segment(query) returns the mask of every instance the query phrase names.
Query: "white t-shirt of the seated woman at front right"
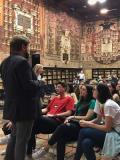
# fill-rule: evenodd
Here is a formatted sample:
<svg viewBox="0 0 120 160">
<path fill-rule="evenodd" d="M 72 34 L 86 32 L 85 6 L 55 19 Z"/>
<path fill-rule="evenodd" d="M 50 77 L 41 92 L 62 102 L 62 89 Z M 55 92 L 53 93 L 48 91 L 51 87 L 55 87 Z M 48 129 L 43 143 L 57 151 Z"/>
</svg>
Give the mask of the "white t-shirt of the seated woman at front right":
<svg viewBox="0 0 120 160">
<path fill-rule="evenodd" d="M 101 108 L 103 106 L 103 112 L 101 112 Z M 108 99 L 105 104 L 100 104 L 98 100 L 96 100 L 96 105 L 94 112 L 103 116 L 110 116 L 113 118 L 113 127 L 120 126 L 120 106 L 111 99 Z"/>
</svg>

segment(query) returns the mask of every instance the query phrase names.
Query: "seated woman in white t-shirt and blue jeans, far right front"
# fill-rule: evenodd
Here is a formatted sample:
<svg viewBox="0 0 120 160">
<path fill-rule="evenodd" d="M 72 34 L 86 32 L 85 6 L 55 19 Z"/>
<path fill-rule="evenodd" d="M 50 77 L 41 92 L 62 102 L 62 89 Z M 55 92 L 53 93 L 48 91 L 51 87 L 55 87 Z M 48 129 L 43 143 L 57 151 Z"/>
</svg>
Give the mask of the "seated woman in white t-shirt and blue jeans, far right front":
<svg viewBox="0 0 120 160">
<path fill-rule="evenodd" d="M 112 158 L 120 152 L 120 107 L 111 100 L 109 88 L 99 84 L 96 88 L 97 101 L 93 121 L 80 121 L 78 144 L 74 160 L 80 160 L 84 153 L 87 160 L 96 160 L 94 146 L 102 150 L 104 159 Z"/>
</svg>

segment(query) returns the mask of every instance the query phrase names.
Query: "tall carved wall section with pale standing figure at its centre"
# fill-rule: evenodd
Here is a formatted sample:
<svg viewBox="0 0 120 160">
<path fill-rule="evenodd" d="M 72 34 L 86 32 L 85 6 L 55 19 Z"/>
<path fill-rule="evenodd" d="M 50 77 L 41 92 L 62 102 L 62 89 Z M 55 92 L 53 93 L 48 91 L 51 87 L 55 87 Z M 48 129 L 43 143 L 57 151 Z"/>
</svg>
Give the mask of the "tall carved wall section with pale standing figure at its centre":
<svg viewBox="0 0 120 160">
<path fill-rule="evenodd" d="M 65 53 L 68 54 L 68 60 L 78 61 L 80 56 L 81 23 L 66 13 L 53 8 L 49 8 L 46 11 L 46 17 L 46 54 L 61 57 L 61 52 L 65 51 L 63 48 L 67 46 Z M 69 38 L 64 38 L 66 31 L 69 32 Z M 64 45 L 63 39 L 66 39 Z"/>
</svg>

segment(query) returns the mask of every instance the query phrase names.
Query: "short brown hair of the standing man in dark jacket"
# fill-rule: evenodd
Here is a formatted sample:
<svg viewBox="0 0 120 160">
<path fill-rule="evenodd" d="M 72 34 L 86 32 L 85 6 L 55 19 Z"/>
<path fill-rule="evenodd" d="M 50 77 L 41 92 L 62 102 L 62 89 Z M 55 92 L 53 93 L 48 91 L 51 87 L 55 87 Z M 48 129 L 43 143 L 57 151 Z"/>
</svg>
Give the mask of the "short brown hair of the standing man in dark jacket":
<svg viewBox="0 0 120 160">
<path fill-rule="evenodd" d="M 14 54 L 14 52 L 18 52 L 22 49 L 22 45 L 27 46 L 29 44 L 29 40 L 25 36 L 14 36 L 10 42 L 10 54 Z"/>
</svg>

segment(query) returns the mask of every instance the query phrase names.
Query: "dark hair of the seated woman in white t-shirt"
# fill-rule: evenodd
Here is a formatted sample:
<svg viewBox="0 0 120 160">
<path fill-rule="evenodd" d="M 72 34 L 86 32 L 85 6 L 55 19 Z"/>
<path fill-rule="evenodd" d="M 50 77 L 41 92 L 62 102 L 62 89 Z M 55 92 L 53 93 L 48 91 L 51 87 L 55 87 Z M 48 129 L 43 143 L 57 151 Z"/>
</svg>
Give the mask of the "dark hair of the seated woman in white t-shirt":
<svg viewBox="0 0 120 160">
<path fill-rule="evenodd" d="M 104 104 L 108 99 L 112 98 L 110 90 L 106 84 L 98 84 L 97 91 L 98 101 L 102 104 Z"/>
</svg>

